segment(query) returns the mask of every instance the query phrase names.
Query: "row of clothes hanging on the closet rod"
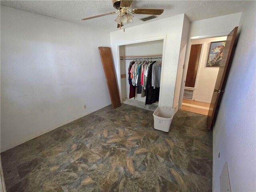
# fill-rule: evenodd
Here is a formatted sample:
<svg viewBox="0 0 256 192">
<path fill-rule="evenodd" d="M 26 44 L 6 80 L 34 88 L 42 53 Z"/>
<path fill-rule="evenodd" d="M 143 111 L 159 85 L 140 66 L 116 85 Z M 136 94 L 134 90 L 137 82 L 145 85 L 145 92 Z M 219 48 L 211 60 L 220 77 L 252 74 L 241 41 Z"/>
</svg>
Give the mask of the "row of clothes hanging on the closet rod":
<svg viewBox="0 0 256 192">
<path fill-rule="evenodd" d="M 145 105 L 159 100 L 161 64 L 160 61 L 130 62 L 128 68 L 129 98 L 135 99 L 137 89 L 137 94 L 141 94 L 141 97 L 146 96 Z"/>
</svg>

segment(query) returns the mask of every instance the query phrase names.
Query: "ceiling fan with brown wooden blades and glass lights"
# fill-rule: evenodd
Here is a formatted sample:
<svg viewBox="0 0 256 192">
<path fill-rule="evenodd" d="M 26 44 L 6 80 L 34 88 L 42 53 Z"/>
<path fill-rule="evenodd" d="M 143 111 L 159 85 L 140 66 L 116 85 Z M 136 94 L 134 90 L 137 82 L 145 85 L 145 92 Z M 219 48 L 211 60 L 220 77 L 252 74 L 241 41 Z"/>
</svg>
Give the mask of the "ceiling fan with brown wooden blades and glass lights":
<svg viewBox="0 0 256 192">
<path fill-rule="evenodd" d="M 102 17 L 106 15 L 113 15 L 117 14 L 119 12 L 119 15 L 115 19 L 115 22 L 117 22 L 117 28 L 121 28 L 125 24 L 128 24 L 132 22 L 132 14 L 147 14 L 147 15 L 160 15 L 164 12 L 163 9 L 133 9 L 129 10 L 129 8 L 132 5 L 133 0 L 112 0 L 113 7 L 116 8 L 118 11 L 116 12 L 109 12 L 109 13 L 104 13 L 92 17 L 87 17 L 83 18 L 82 20 L 88 20 L 88 19 L 93 19 L 97 17 Z M 130 14 L 130 13 L 132 14 Z"/>
</svg>

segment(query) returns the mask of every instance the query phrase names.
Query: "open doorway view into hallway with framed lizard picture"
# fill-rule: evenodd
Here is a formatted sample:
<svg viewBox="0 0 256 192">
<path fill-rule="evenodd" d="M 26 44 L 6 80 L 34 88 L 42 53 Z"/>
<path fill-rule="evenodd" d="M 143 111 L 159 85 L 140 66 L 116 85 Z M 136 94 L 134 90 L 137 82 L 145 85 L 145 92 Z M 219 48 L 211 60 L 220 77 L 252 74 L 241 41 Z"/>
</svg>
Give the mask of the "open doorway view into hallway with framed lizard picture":
<svg viewBox="0 0 256 192">
<path fill-rule="evenodd" d="M 226 38 L 192 40 L 181 110 L 208 115 Z"/>
</svg>

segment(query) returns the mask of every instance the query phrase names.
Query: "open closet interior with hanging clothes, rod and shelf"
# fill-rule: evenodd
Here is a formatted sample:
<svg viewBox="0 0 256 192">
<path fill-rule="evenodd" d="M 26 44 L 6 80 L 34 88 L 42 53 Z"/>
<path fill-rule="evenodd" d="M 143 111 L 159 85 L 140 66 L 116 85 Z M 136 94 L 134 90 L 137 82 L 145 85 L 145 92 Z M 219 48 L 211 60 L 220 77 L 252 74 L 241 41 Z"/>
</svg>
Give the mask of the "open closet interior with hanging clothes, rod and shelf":
<svg viewBox="0 0 256 192">
<path fill-rule="evenodd" d="M 164 40 L 119 46 L 122 103 L 156 110 L 160 100 Z"/>
</svg>

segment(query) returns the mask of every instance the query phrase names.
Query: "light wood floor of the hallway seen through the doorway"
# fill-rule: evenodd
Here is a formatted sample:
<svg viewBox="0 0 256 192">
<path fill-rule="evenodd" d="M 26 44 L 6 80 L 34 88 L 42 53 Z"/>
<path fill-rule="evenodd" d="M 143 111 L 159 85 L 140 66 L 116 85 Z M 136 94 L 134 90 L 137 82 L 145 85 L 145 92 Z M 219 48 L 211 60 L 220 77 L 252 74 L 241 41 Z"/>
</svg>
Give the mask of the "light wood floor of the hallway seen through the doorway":
<svg viewBox="0 0 256 192">
<path fill-rule="evenodd" d="M 183 99 L 181 110 L 207 115 L 210 108 L 210 104 Z"/>
</svg>

